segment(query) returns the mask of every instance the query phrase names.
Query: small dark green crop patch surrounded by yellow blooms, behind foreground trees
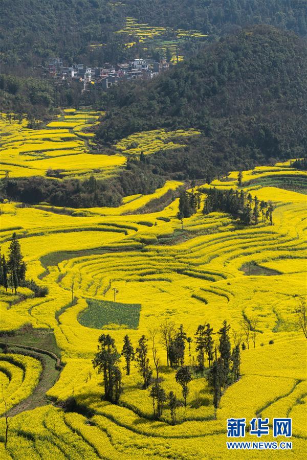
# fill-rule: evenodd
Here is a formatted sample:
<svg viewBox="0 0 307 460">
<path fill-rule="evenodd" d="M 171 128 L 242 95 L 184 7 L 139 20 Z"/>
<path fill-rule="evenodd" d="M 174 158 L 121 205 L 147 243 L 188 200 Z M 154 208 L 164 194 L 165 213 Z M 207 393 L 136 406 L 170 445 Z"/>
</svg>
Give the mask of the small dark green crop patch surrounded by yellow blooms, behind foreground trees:
<svg viewBox="0 0 307 460">
<path fill-rule="evenodd" d="M 78 321 L 82 326 L 94 329 L 137 329 L 140 320 L 140 304 L 120 304 L 86 299 L 88 307 L 81 311 Z"/>
</svg>

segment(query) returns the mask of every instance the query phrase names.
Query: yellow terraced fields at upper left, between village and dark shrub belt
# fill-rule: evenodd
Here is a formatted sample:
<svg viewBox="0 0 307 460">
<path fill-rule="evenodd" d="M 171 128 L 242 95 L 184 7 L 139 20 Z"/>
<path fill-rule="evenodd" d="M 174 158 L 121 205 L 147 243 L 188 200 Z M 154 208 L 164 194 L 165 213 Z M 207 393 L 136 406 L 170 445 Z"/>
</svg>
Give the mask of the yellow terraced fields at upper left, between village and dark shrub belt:
<svg viewBox="0 0 307 460">
<path fill-rule="evenodd" d="M 17 123 L 5 114 L 0 119 L 0 177 L 31 177 L 52 175 L 99 178 L 111 177 L 125 164 L 122 155 L 92 153 L 94 133 L 83 132 L 97 124 L 101 113 L 64 112 L 44 129 L 27 128 L 27 120 Z"/>
</svg>

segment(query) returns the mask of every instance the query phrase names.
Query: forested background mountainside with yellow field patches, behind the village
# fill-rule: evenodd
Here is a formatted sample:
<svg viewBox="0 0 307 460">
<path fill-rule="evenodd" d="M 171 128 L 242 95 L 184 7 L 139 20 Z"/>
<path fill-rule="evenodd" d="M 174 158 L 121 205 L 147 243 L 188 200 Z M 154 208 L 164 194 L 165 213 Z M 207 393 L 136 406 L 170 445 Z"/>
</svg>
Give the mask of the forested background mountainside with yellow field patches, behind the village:
<svg viewBox="0 0 307 460">
<path fill-rule="evenodd" d="M 81 97 L 77 83 L 42 81 L 49 58 L 92 67 L 137 56 L 177 62 L 247 25 L 307 33 L 303 0 L 2 0 L 1 7 L 0 104 L 43 118 Z M 83 94 L 81 104 L 91 104 L 93 96 Z"/>
</svg>

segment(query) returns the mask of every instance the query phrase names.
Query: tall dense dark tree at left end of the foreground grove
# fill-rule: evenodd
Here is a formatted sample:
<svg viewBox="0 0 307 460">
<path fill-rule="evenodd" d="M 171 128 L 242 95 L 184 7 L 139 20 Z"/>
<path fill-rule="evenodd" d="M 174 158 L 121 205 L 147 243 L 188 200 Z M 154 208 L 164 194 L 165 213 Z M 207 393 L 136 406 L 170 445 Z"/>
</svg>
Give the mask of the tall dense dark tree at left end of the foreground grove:
<svg viewBox="0 0 307 460">
<path fill-rule="evenodd" d="M 103 374 L 104 399 L 117 403 L 122 387 L 119 369 L 120 354 L 116 349 L 114 339 L 109 334 L 101 334 L 97 350 L 92 362 L 94 369 L 97 369 L 99 374 Z"/>
</svg>

